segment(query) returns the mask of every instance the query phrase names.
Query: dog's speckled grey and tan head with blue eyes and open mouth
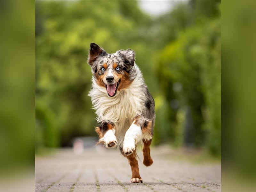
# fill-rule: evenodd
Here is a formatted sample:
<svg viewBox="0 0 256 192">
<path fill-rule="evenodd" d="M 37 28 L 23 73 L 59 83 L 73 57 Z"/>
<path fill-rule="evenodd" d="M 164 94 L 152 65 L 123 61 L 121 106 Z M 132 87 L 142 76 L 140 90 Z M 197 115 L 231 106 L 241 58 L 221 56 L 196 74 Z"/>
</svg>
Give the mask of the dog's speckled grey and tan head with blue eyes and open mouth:
<svg viewBox="0 0 256 192">
<path fill-rule="evenodd" d="M 130 73 L 134 68 L 134 61 L 135 52 L 131 49 L 108 54 L 97 44 L 91 43 L 88 64 L 97 84 L 105 87 L 110 97 L 132 83 Z"/>
</svg>

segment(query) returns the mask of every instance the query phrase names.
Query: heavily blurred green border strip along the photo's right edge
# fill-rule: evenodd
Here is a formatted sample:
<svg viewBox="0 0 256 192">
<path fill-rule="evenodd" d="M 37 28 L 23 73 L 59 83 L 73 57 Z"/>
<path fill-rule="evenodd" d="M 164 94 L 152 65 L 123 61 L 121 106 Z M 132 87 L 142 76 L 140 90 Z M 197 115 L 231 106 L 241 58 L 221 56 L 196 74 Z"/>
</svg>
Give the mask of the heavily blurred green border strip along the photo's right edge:
<svg viewBox="0 0 256 192">
<path fill-rule="evenodd" d="M 222 77 L 222 126 L 226 128 L 222 130 L 223 172 L 228 173 L 228 179 L 238 176 L 243 182 L 252 182 L 255 190 L 256 2 L 234 1 L 224 5 L 222 60 L 227 75 Z M 237 185 L 232 188 L 237 189 Z"/>
</svg>

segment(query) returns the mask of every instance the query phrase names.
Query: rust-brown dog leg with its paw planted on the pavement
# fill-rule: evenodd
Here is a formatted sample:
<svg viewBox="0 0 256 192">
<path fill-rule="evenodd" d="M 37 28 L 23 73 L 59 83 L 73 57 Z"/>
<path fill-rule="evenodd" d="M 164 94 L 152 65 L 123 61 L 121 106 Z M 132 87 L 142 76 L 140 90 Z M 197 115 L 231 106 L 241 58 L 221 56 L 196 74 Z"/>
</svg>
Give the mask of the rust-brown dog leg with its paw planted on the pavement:
<svg viewBox="0 0 256 192">
<path fill-rule="evenodd" d="M 129 163 L 131 165 L 131 170 L 132 170 L 131 183 L 142 183 L 142 179 L 140 177 L 140 172 L 139 172 L 139 165 L 136 159 L 136 151 L 134 151 L 131 155 L 126 156 L 126 158 L 129 160 Z"/>
</svg>

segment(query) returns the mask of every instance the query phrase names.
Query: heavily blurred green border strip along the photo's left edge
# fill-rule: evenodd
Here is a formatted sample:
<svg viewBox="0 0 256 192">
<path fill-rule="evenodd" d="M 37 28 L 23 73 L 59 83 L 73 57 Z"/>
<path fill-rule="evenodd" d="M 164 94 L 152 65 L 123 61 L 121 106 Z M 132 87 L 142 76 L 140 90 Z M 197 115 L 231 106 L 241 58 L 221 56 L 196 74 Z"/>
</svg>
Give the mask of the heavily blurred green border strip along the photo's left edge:
<svg viewBox="0 0 256 192">
<path fill-rule="evenodd" d="M 35 165 L 35 4 L 0 4 L 1 180 Z"/>
</svg>

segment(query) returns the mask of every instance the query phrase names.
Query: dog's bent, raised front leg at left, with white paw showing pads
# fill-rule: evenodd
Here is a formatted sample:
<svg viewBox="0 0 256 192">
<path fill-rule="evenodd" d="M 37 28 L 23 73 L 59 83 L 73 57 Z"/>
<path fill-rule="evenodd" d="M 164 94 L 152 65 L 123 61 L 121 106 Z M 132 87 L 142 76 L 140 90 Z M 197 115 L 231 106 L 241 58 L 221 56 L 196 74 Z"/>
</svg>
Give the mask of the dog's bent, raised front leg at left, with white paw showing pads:
<svg viewBox="0 0 256 192">
<path fill-rule="evenodd" d="M 95 131 L 99 135 L 99 143 L 105 143 L 106 148 L 115 148 L 117 140 L 115 136 L 115 127 L 111 123 L 103 122 L 100 127 L 95 127 Z"/>
</svg>

